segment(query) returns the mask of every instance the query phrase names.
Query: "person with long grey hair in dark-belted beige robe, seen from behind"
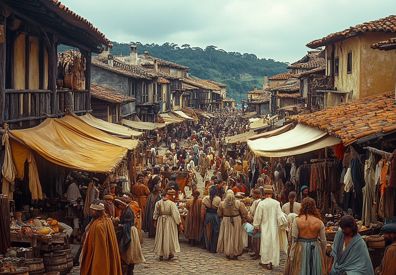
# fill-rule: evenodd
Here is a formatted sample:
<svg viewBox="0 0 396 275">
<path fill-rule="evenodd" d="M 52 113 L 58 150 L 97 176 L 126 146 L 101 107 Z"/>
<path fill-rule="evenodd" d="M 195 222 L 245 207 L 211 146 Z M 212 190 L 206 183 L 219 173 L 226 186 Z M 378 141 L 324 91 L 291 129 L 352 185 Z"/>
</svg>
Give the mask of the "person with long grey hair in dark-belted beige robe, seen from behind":
<svg viewBox="0 0 396 275">
<path fill-rule="evenodd" d="M 243 253 L 242 218 L 246 219 L 247 209 L 241 201 L 235 199 L 234 192 L 228 190 L 225 200 L 217 209 L 217 214 L 223 217 L 217 252 L 224 253 L 227 259 L 232 255 L 236 260 Z"/>
</svg>

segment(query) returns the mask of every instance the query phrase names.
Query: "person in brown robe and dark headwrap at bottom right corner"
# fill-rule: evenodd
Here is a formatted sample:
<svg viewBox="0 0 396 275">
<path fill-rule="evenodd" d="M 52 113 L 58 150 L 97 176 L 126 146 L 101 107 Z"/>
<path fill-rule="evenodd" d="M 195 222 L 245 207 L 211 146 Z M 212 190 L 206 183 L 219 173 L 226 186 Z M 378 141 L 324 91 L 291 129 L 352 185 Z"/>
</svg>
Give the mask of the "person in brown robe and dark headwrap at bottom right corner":
<svg viewBox="0 0 396 275">
<path fill-rule="evenodd" d="M 396 224 L 385 224 L 381 231 L 384 233 L 385 239 L 391 241 L 392 244 L 386 247 L 384 258 L 379 267 L 375 269 L 375 274 L 396 274 Z"/>
</svg>

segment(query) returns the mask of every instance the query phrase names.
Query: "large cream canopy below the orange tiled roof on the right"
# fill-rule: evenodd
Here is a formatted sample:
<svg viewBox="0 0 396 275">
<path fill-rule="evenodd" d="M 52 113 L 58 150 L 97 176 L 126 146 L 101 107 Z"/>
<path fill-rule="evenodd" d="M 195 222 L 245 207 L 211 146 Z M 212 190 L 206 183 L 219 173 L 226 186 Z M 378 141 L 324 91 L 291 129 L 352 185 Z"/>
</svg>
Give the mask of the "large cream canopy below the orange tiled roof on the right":
<svg viewBox="0 0 396 275">
<path fill-rule="evenodd" d="M 339 138 L 331 137 L 325 131 L 297 124 L 294 129 L 274 137 L 247 140 L 247 145 L 256 155 L 283 157 L 307 153 L 340 142 Z"/>
</svg>

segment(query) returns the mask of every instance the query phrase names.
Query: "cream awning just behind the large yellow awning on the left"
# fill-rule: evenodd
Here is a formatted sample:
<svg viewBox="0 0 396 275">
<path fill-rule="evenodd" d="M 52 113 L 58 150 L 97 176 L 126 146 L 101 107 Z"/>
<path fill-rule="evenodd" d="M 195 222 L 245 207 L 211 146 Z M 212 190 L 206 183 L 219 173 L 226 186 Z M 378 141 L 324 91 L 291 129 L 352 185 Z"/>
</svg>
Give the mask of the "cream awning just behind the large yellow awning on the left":
<svg viewBox="0 0 396 275">
<path fill-rule="evenodd" d="M 125 137 L 139 137 L 143 135 L 142 132 L 138 131 L 133 131 L 132 129 L 129 129 L 128 127 L 124 127 L 122 125 L 118 125 L 115 123 L 110 123 L 107 121 L 104 121 L 99 118 L 95 118 L 91 116 L 90 114 L 86 114 L 85 116 L 79 116 L 78 118 L 84 120 L 86 123 L 91 125 L 92 127 L 95 127 L 96 129 L 105 131 L 111 135 L 118 135 L 118 136 L 125 136 Z"/>
</svg>

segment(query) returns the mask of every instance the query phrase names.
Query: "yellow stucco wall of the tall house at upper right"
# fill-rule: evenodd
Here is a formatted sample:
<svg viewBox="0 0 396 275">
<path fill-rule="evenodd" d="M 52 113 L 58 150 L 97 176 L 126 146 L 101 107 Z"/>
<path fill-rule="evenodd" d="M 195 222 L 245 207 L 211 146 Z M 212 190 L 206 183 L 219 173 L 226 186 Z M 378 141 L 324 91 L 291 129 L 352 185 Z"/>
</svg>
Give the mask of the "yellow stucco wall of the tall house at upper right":
<svg viewBox="0 0 396 275">
<path fill-rule="evenodd" d="M 348 38 L 335 43 L 334 56 L 339 57 L 339 75 L 334 77 L 338 91 L 352 91 L 352 96 L 344 101 L 394 90 L 396 55 L 393 51 L 379 51 L 370 48 L 371 44 L 394 34 L 366 32 L 362 36 Z M 326 46 L 326 74 L 330 75 L 331 45 Z M 352 73 L 347 74 L 347 55 L 352 50 Z M 341 96 L 341 95 L 340 95 Z M 337 95 L 338 97 L 338 95 Z M 330 98 L 329 98 L 330 99 Z M 333 106 L 328 102 L 328 106 Z"/>
</svg>

